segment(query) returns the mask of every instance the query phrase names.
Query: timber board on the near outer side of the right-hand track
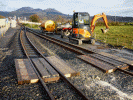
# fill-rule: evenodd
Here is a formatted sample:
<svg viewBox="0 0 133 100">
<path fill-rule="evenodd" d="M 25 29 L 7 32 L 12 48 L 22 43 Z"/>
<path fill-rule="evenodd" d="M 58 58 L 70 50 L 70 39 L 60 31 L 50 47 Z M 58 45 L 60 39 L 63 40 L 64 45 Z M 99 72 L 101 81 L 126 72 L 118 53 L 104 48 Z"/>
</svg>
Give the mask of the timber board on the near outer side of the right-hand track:
<svg viewBox="0 0 133 100">
<path fill-rule="evenodd" d="M 89 63 L 89 64 L 92 64 L 93 66 L 101 69 L 102 71 L 104 71 L 106 73 L 114 72 L 117 69 L 116 67 L 113 67 L 112 65 L 107 64 L 103 61 L 100 61 L 96 58 L 92 58 L 89 55 L 87 55 L 87 56 L 86 55 L 80 55 L 80 56 L 77 56 L 77 57 L 82 59 L 83 61 Z"/>
</svg>

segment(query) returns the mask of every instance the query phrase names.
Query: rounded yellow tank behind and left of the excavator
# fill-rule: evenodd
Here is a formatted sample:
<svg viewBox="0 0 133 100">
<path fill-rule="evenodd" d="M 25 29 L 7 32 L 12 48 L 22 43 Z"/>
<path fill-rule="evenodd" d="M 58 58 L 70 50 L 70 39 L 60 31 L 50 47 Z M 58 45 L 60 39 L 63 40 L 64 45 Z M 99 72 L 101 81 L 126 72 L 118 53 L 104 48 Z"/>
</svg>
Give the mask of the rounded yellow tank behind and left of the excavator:
<svg viewBox="0 0 133 100">
<path fill-rule="evenodd" d="M 52 20 L 48 20 L 41 24 L 41 29 L 43 32 L 54 32 L 55 31 L 55 23 Z"/>
</svg>

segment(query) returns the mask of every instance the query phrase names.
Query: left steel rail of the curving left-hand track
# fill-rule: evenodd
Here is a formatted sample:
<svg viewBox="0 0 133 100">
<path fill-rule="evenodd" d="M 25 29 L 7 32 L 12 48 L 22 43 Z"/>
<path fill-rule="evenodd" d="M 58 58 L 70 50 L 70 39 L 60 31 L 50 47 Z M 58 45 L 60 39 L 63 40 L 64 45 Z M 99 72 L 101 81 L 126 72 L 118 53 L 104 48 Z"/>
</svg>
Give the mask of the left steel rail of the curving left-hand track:
<svg viewBox="0 0 133 100">
<path fill-rule="evenodd" d="M 25 31 L 26 31 L 26 30 L 25 30 Z M 31 58 L 29 57 L 29 55 L 28 55 L 28 53 L 27 53 L 27 51 L 26 51 L 26 47 L 25 47 L 25 45 L 24 45 L 24 43 L 23 43 L 23 39 L 22 39 L 22 31 L 21 31 L 21 33 L 20 33 L 20 41 L 21 41 L 21 45 L 22 45 L 22 47 L 23 47 L 23 50 L 24 50 L 24 52 L 25 52 L 25 54 L 26 54 L 26 56 L 27 56 L 27 58 L 28 58 L 28 60 L 29 60 L 29 62 L 30 62 L 30 64 L 31 64 L 32 68 L 34 69 L 34 71 L 35 71 L 35 73 L 36 73 L 36 75 L 37 75 L 39 81 L 41 82 L 43 88 L 46 90 L 46 92 L 47 92 L 49 98 L 50 98 L 51 100 L 55 100 L 54 97 L 53 97 L 53 95 L 50 93 L 48 87 L 46 86 L 45 82 L 43 81 L 43 79 L 42 79 L 41 76 L 39 75 L 38 71 L 36 70 L 36 68 L 35 68 L 35 66 L 34 66 L 34 64 L 33 64 L 32 60 L 31 60 Z"/>
</svg>

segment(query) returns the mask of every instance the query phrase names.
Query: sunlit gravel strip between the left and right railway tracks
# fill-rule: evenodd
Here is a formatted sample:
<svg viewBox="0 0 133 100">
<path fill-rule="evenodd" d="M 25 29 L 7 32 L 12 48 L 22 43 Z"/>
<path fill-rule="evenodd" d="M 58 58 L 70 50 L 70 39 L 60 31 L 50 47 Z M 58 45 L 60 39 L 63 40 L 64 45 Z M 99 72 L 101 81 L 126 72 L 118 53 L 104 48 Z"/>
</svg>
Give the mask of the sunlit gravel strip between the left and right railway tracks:
<svg viewBox="0 0 133 100">
<path fill-rule="evenodd" d="M 80 71 L 81 75 L 70 80 L 78 85 L 88 97 L 93 99 L 132 99 L 133 78 L 123 72 L 116 71 L 105 74 L 101 70 L 84 63 L 76 58 L 76 54 L 65 50 L 49 41 L 40 39 L 40 42 L 54 54 L 66 61 L 69 65 Z"/>
</svg>

